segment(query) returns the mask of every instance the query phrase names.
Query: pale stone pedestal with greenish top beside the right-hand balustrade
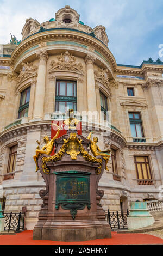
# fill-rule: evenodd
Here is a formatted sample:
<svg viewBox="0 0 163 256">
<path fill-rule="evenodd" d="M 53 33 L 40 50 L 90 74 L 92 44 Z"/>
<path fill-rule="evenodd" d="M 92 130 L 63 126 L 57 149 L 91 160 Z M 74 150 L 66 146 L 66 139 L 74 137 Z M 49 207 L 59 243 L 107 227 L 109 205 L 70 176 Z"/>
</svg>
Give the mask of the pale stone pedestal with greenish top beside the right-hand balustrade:
<svg viewBox="0 0 163 256">
<path fill-rule="evenodd" d="M 154 223 L 154 218 L 149 213 L 147 202 L 131 202 L 130 214 L 127 217 L 128 229 L 139 229 Z"/>
</svg>

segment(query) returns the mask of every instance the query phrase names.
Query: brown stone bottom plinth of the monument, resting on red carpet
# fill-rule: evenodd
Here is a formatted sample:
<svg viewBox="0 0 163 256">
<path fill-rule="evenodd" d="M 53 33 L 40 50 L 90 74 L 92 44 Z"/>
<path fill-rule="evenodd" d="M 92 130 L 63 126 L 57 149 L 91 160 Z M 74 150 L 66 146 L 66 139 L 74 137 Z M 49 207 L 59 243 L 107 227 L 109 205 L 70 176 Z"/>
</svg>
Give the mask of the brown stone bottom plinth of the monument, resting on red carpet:
<svg viewBox="0 0 163 256">
<path fill-rule="evenodd" d="M 95 239 L 111 238 L 111 228 L 108 224 L 93 226 L 88 228 L 54 228 L 43 227 L 34 228 L 34 240 L 52 240 L 64 242 L 79 242 Z"/>
</svg>

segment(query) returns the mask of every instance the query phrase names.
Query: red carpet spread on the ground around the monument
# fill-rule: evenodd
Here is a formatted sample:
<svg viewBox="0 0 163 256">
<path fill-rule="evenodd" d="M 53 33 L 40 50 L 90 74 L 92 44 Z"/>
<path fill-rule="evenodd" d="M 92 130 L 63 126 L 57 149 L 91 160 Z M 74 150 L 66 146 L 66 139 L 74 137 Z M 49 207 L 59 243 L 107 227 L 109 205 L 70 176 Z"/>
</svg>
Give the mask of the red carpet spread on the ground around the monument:
<svg viewBox="0 0 163 256">
<path fill-rule="evenodd" d="M 96 239 L 84 242 L 58 242 L 33 240 L 32 230 L 26 230 L 16 235 L 1 235 L 0 245 L 154 245 L 162 244 L 159 237 L 146 234 L 118 234 L 112 232 L 110 239 Z"/>
</svg>

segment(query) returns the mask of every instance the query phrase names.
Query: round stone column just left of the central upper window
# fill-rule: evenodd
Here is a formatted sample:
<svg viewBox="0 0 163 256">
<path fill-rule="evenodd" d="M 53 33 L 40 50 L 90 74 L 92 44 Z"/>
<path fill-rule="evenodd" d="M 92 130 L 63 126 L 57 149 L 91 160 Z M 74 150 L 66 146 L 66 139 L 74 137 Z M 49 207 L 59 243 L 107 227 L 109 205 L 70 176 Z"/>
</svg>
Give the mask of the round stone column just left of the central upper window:
<svg viewBox="0 0 163 256">
<path fill-rule="evenodd" d="M 41 50 L 36 53 L 36 56 L 40 59 L 40 62 L 39 62 L 38 76 L 37 76 L 37 83 L 36 83 L 33 119 L 42 120 L 44 96 L 45 96 L 46 62 L 48 59 L 48 53 L 46 50 Z"/>
</svg>

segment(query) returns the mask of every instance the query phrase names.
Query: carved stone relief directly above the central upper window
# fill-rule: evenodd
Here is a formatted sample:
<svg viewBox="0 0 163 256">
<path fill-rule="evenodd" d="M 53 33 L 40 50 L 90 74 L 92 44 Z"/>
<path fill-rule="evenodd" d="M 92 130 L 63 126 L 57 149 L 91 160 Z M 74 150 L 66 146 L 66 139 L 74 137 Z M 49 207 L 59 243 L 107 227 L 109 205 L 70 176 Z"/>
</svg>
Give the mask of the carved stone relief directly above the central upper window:
<svg viewBox="0 0 163 256">
<path fill-rule="evenodd" d="M 58 70 L 68 70 L 83 75 L 82 63 L 77 63 L 77 58 L 72 56 L 72 54 L 70 54 L 68 51 L 66 51 L 64 54 L 57 56 L 57 61 L 52 60 L 50 65 L 52 66 L 52 68 L 49 69 L 49 73 Z"/>
</svg>

